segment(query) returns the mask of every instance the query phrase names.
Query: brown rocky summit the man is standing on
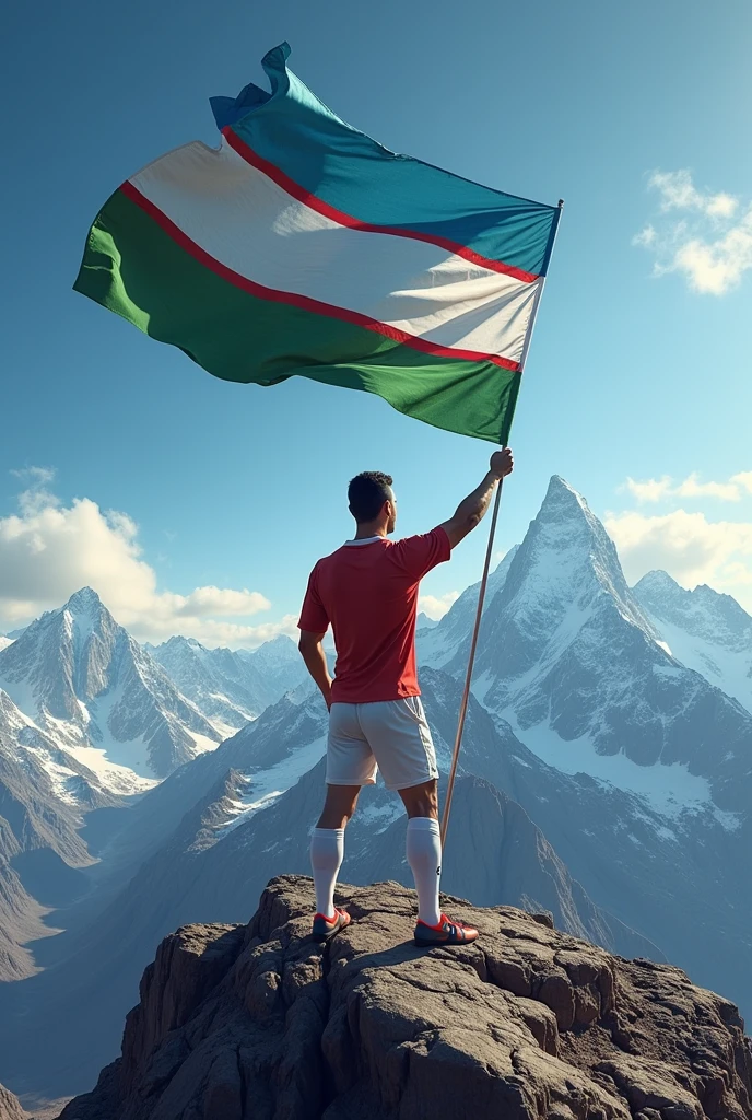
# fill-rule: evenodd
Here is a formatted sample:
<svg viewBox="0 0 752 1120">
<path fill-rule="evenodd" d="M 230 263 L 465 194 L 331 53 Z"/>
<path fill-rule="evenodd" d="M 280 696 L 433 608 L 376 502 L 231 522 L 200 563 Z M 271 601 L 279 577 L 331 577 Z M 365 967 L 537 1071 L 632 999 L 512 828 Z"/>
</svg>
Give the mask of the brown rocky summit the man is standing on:
<svg viewBox="0 0 752 1120">
<path fill-rule="evenodd" d="M 413 895 L 344 888 L 352 925 L 308 936 L 309 879 L 274 879 L 247 926 L 167 937 L 122 1057 L 60 1120 L 744 1120 L 735 1007 L 543 915 L 473 909 L 478 945 L 419 950 Z"/>
</svg>

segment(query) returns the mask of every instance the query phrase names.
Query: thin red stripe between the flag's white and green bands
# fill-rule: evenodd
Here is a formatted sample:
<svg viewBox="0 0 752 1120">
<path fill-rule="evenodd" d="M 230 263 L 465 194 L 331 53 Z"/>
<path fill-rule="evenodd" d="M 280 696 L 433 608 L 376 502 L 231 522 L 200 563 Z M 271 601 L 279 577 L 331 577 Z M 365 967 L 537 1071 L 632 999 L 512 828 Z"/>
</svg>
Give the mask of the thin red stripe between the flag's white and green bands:
<svg viewBox="0 0 752 1120">
<path fill-rule="evenodd" d="M 481 354 L 478 351 L 459 349 L 450 346 L 441 346 L 439 343 L 432 343 L 427 338 L 420 338 L 417 335 L 411 335 L 406 330 L 401 330 L 398 327 L 393 327 L 388 323 L 382 323 L 379 319 L 372 319 L 368 315 L 361 315 L 360 311 L 349 311 L 344 307 L 335 307 L 332 304 L 323 304 L 321 300 L 311 299 L 310 296 L 298 296 L 295 292 L 291 291 L 280 291 L 276 288 L 266 288 L 264 284 L 256 283 L 255 280 L 248 280 L 247 277 L 241 276 L 239 272 L 235 272 L 234 269 L 228 268 L 218 261 L 216 256 L 207 253 L 205 249 L 201 249 L 188 234 L 184 233 L 182 230 L 175 224 L 159 208 L 152 203 L 145 195 L 142 195 L 138 187 L 135 187 L 130 180 L 123 183 L 120 188 L 122 193 L 140 206 L 144 213 L 147 213 L 153 221 L 167 233 L 172 240 L 185 249 L 187 253 L 190 253 L 197 261 L 204 264 L 212 272 L 222 277 L 228 283 L 234 284 L 235 288 L 242 288 L 244 291 L 250 292 L 252 296 L 257 296 L 260 299 L 267 299 L 274 304 L 289 304 L 291 307 L 300 307 L 304 311 L 313 311 L 316 315 L 326 315 L 331 319 L 342 319 L 345 323 L 352 323 L 355 326 L 365 327 L 367 330 L 374 330 L 376 334 L 384 335 L 386 338 L 392 338 L 396 343 L 403 343 L 405 346 L 411 346 L 413 349 L 421 351 L 424 354 L 433 354 L 438 357 L 461 357 L 469 362 L 492 362 L 494 365 L 500 366 L 502 370 L 510 370 L 513 373 L 519 371 L 519 362 L 511 362 L 509 358 L 499 357 L 497 354 Z"/>
</svg>

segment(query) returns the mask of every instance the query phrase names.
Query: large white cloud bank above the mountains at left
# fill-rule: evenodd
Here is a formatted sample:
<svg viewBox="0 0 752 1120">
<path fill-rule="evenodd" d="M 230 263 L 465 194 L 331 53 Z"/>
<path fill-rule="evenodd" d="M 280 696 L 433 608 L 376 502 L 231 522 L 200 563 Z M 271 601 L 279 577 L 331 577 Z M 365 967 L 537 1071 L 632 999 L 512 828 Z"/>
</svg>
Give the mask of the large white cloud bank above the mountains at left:
<svg viewBox="0 0 752 1120">
<path fill-rule="evenodd" d="M 208 644 L 254 646 L 294 633 L 295 619 L 246 625 L 267 610 L 260 591 L 197 587 L 189 595 L 157 589 L 142 559 L 138 526 L 128 514 L 102 511 L 90 498 L 60 505 L 45 485 L 53 474 L 24 480 L 19 513 L 0 517 L 0 622 L 4 628 L 59 607 L 78 588 L 93 587 L 118 622 L 141 641 L 186 634 Z M 45 470 L 47 468 L 44 468 Z M 238 622 L 241 619 L 241 622 Z"/>
</svg>

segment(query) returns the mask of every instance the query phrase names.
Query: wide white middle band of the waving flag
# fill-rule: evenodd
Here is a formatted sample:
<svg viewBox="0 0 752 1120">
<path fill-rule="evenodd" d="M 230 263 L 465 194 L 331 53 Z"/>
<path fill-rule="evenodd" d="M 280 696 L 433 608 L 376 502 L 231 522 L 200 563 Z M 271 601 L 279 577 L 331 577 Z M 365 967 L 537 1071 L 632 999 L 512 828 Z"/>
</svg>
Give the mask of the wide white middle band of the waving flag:
<svg viewBox="0 0 752 1120">
<path fill-rule="evenodd" d="M 393 234 L 351 230 L 235 152 L 190 143 L 131 183 L 191 241 L 255 283 L 369 316 L 440 346 L 518 362 L 537 286 Z"/>
</svg>

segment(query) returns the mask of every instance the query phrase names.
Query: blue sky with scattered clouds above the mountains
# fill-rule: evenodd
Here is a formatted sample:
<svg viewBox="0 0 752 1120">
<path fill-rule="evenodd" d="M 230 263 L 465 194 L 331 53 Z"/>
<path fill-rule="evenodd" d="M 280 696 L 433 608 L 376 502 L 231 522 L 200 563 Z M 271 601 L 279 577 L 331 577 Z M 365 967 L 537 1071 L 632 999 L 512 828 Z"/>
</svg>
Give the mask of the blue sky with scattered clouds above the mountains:
<svg viewBox="0 0 752 1120">
<path fill-rule="evenodd" d="M 558 242 L 511 435 L 496 541 L 552 474 L 630 580 L 708 582 L 752 612 L 752 149 L 748 0 L 93 0 L 11 6 L 0 102 L 0 633 L 95 587 L 137 637 L 292 633 L 309 569 L 350 534 L 363 469 L 431 529 L 489 445 L 365 393 L 217 381 L 72 291 L 109 194 L 216 143 L 208 99 L 290 66 L 387 148 L 555 204 Z M 480 529 L 423 585 L 479 578 Z"/>
</svg>

